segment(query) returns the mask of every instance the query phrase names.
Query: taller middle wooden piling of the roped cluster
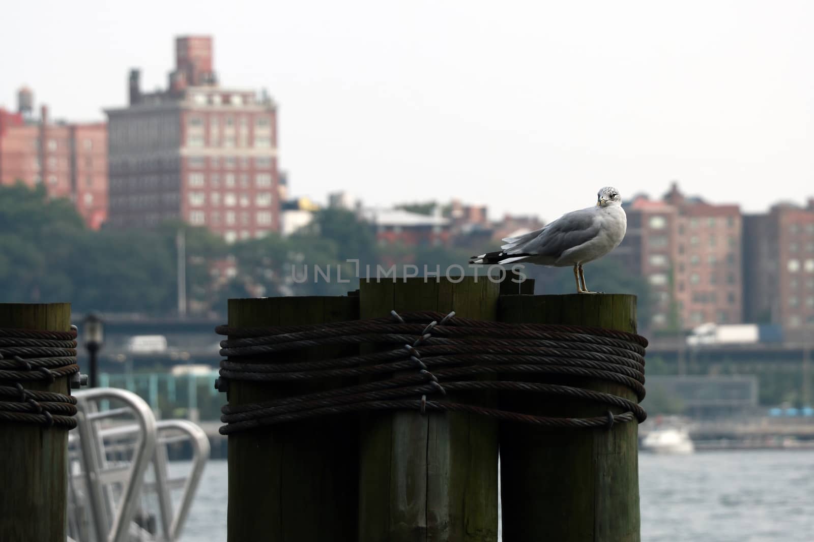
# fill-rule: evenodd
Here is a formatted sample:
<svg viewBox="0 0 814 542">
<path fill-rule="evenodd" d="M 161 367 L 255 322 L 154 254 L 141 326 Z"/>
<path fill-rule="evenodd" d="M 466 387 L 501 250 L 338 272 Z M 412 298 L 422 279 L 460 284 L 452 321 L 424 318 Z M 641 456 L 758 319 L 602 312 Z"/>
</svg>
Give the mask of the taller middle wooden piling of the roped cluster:
<svg viewBox="0 0 814 542">
<path fill-rule="evenodd" d="M 499 285 L 484 277 L 370 280 L 360 286 L 362 319 L 387 317 L 391 310 L 497 317 Z M 488 394 L 479 399 L 488 400 Z M 497 540 L 495 420 L 452 412 L 367 413 L 360 469 L 361 542 Z"/>
</svg>

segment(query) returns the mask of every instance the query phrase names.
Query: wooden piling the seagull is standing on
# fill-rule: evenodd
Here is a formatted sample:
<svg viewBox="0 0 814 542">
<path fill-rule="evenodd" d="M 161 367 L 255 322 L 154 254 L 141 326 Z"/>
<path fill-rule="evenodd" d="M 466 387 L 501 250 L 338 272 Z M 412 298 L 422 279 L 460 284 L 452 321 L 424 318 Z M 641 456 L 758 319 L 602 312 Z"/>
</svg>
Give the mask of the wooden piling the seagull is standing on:
<svg viewBox="0 0 814 542">
<path fill-rule="evenodd" d="M 507 295 L 500 300 L 499 320 L 636 333 L 636 296 Z M 524 374 L 518 379 L 531 378 Z M 637 399 L 627 387 L 610 382 L 539 380 Z M 501 393 L 500 401 L 501 409 L 555 417 L 604 416 L 608 409 L 605 404 L 517 392 Z M 504 422 L 500 447 L 504 542 L 640 540 L 636 422 L 617 424 L 610 431 Z"/>
</svg>

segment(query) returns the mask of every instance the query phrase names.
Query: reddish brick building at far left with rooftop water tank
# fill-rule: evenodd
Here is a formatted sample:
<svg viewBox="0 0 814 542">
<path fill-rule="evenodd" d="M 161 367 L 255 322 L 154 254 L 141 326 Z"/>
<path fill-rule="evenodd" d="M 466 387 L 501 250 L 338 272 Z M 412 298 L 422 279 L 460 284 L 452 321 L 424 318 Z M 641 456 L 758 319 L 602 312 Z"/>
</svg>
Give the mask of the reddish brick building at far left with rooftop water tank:
<svg viewBox="0 0 814 542">
<path fill-rule="evenodd" d="M 68 198 L 90 228 L 107 218 L 107 125 L 52 122 L 48 107 L 33 118 L 33 94 L 18 93 L 18 111 L 0 109 L 0 184 L 43 184 Z"/>
</svg>

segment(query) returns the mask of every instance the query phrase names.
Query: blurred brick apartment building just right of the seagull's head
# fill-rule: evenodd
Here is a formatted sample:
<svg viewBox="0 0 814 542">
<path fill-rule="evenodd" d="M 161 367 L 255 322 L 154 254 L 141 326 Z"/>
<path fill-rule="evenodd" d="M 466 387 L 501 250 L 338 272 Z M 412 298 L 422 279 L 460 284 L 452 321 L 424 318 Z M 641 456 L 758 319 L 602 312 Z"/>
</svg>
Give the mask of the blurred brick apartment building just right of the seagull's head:
<svg viewBox="0 0 814 542">
<path fill-rule="evenodd" d="M 737 205 L 681 194 L 638 196 L 625 206 L 628 232 L 611 253 L 653 292 L 650 329 L 687 330 L 742 321 L 742 219 Z"/>
</svg>

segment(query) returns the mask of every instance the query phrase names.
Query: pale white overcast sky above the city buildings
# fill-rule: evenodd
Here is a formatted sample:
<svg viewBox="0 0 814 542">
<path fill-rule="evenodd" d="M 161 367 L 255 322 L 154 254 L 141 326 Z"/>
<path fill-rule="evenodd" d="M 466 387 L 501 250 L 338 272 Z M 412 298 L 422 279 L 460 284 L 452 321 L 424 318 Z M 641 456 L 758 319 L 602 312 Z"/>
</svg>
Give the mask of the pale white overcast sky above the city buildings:
<svg viewBox="0 0 814 542">
<path fill-rule="evenodd" d="M 279 103 L 295 195 L 457 197 L 552 219 L 597 189 L 747 211 L 814 195 L 814 2 L 5 2 L 0 105 L 103 119 L 212 34 Z"/>
</svg>

